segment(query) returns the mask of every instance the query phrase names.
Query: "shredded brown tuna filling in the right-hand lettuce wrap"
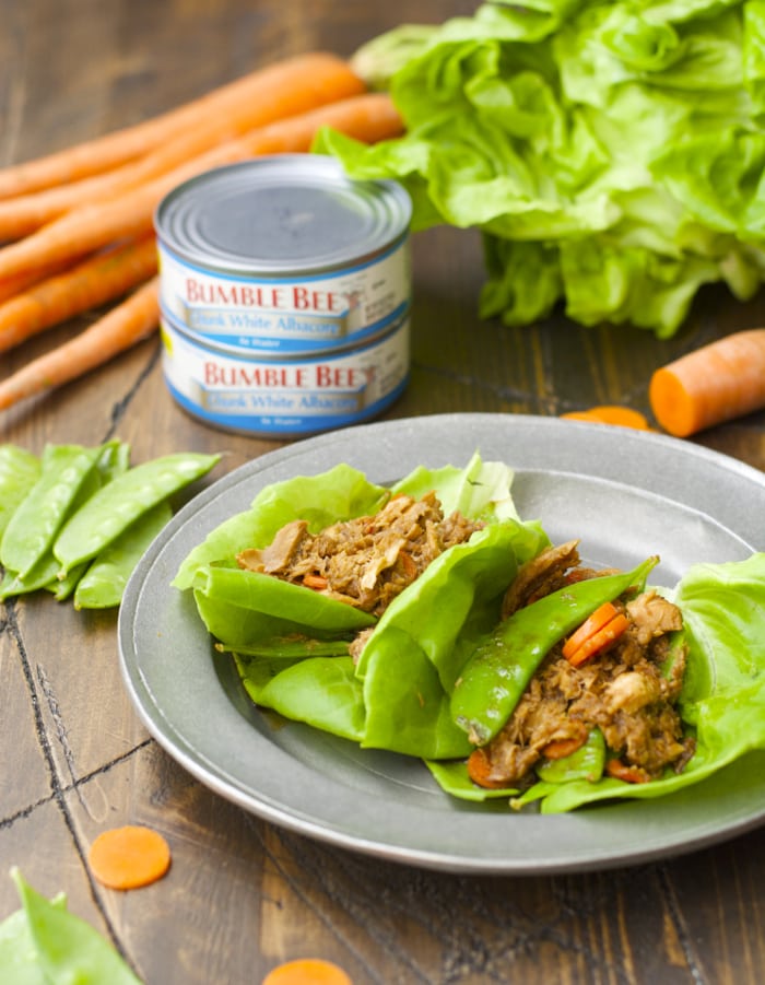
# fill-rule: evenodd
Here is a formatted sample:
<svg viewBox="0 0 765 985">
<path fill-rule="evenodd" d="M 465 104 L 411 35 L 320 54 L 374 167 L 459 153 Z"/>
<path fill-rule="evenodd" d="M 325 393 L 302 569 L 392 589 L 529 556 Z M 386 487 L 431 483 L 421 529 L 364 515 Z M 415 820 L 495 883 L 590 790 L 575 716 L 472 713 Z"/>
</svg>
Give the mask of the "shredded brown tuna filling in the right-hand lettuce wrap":
<svg viewBox="0 0 765 985">
<path fill-rule="evenodd" d="M 530 585 L 560 586 L 596 574 L 565 571 L 567 563 L 578 561 L 572 543 L 546 554 L 534 568 L 520 573 L 521 587 L 511 593 L 516 601 L 525 598 L 528 603 L 537 597 L 533 590 L 527 591 Z M 554 577 L 549 578 L 553 571 Z M 538 581 L 540 572 L 546 574 Z M 531 781 L 545 747 L 569 740 L 576 746 L 596 727 L 622 774 L 635 782 L 660 776 L 668 766 L 676 771 L 685 766 L 694 744 L 684 737 L 675 707 L 685 649 L 673 652 L 669 671 L 662 666 L 669 634 L 682 629 L 682 613 L 650 590 L 621 608 L 629 625 L 607 652 L 578 667 L 562 655 L 561 645 L 548 655 L 505 727 L 483 749 L 487 784 Z"/>
</svg>

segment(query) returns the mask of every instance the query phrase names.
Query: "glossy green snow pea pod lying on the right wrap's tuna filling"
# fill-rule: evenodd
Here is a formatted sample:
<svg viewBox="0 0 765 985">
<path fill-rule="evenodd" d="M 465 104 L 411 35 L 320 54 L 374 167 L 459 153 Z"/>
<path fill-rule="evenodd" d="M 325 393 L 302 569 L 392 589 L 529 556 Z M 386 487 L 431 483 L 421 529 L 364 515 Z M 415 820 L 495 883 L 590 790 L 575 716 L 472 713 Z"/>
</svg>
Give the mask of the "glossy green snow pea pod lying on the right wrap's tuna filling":
<svg viewBox="0 0 765 985">
<path fill-rule="evenodd" d="M 467 660 L 451 694 L 451 716 L 483 746 L 513 714 L 552 647 L 603 602 L 642 587 L 658 558 L 634 571 L 575 583 L 519 609 L 485 636 Z"/>
</svg>

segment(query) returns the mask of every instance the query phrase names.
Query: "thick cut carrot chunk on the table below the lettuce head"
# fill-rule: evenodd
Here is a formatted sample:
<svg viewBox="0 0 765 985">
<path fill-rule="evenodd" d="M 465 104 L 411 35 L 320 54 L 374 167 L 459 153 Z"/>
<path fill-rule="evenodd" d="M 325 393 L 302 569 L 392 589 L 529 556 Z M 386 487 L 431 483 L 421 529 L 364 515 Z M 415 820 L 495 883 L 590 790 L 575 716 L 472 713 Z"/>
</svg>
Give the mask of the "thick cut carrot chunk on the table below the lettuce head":
<svg viewBox="0 0 765 985">
<path fill-rule="evenodd" d="M 648 397 L 656 420 L 687 437 L 765 407 L 765 328 L 717 339 L 651 376 Z"/>
</svg>

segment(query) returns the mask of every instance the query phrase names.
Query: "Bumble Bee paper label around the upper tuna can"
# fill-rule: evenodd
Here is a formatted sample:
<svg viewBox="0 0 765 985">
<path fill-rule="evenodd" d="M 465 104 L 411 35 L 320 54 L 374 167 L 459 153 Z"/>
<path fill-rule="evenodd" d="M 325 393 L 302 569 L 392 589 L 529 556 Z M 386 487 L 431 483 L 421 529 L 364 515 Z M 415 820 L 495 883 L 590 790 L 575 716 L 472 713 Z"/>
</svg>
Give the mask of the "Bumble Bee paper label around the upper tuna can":
<svg viewBox="0 0 765 985">
<path fill-rule="evenodd" d="M 160 243 L 161 303 L 200 341 L 231 351 L 299 353 L 377 336 L 411 297 L 409 239 L 374 259 L 299 277 L 221 273 Z"/>
</svg>

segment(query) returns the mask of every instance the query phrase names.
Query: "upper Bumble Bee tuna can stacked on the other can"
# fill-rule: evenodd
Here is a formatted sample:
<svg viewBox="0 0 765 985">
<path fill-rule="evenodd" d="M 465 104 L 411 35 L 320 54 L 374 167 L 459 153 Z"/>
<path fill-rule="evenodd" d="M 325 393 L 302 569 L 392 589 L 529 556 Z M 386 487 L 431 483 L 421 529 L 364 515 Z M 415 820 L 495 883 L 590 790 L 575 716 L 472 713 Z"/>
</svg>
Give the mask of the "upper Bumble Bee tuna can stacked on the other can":
<svg viewBox="0 0 765 985">
<path fill-rule="evenodd" d="M 291 355 L 378 337 L 411 303 L 411 200 L 332 157 L 214 168 L 160 203 L 164 312 L 200 343 Z"/>
</svg>

